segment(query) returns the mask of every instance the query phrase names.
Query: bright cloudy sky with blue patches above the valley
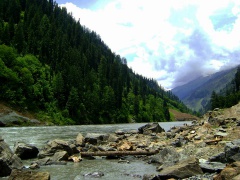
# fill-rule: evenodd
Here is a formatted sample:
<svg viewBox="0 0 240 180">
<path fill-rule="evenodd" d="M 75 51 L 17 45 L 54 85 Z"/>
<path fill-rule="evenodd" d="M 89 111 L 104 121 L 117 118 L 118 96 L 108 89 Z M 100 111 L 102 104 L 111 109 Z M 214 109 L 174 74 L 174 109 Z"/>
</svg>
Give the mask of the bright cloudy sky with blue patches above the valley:
<svg viewBox="0 0 240 180">
<path fill-rule="evenodd" d="M 240 64 L 238 0 L 56 0 L 166 88 Z"/>
</svg>

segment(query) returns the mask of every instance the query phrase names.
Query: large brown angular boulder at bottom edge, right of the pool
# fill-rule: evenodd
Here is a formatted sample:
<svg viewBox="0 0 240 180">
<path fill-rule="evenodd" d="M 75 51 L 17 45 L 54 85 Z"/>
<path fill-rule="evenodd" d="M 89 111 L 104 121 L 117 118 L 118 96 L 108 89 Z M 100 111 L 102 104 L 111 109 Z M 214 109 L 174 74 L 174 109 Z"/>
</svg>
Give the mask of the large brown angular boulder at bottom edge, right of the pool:
<svg viewBox="0 0 240 180">
<path fill-rule="evenodd" d="M 203 171 L 199 166 L 198 159 L 195 157 L 189 157 L 188 159 L 179 161 L 173 166 L 163 168 L 158 177 L 160 179 L 184 179 L 198 174 L 203 174 Z"/>
</svg>

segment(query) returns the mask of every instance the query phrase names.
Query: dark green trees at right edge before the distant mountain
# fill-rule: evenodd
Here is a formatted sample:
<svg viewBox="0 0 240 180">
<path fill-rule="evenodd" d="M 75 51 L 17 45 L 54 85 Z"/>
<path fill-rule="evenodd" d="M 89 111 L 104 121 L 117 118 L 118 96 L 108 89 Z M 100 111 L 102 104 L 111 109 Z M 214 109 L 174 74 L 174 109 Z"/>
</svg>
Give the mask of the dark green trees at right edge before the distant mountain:
<svg viewBox="0 0 240 180">
<path fill-rule="evenodd" d="M 212 92 L 211 109 L 228 108 L 237 104 L 240 100 L 240 67 L 237 68 L 234 79 L 219 93 Z"/>
</svg>

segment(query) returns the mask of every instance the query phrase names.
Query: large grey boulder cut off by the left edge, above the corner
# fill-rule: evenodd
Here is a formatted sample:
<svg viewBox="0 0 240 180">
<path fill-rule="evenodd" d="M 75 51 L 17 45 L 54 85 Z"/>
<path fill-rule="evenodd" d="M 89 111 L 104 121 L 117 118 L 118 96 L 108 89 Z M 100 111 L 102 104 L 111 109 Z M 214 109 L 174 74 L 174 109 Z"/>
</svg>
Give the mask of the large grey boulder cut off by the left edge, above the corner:
<svg viewBox="0 0 240 180">
<path fill-rule="evenodd" d="M 22 168 L 21 159 L 16 154 L 13 154 L 8 144 L 2 139 L 0 141 L 0 177 L 9 176 L 12 169 Z"/>
</svg>

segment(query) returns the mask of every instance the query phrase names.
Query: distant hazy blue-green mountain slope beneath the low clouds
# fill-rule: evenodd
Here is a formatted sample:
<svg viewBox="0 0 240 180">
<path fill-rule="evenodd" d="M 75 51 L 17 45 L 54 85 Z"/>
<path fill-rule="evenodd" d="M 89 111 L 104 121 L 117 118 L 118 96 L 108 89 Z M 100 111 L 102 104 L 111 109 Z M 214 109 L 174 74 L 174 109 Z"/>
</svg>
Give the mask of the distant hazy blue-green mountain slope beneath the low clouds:
<svg viewBox="0 0 240 180">
<path fill-rule="evenodd" d="M 214 73 L 209 76 L 199 77 L 187 84 L 172 89 L 172 92 L 194 111 L 208 110 L 212 92 L 219 93 L 226 85 L 232 82 L 237 68 L 232 68 Z"/>
</svg>

